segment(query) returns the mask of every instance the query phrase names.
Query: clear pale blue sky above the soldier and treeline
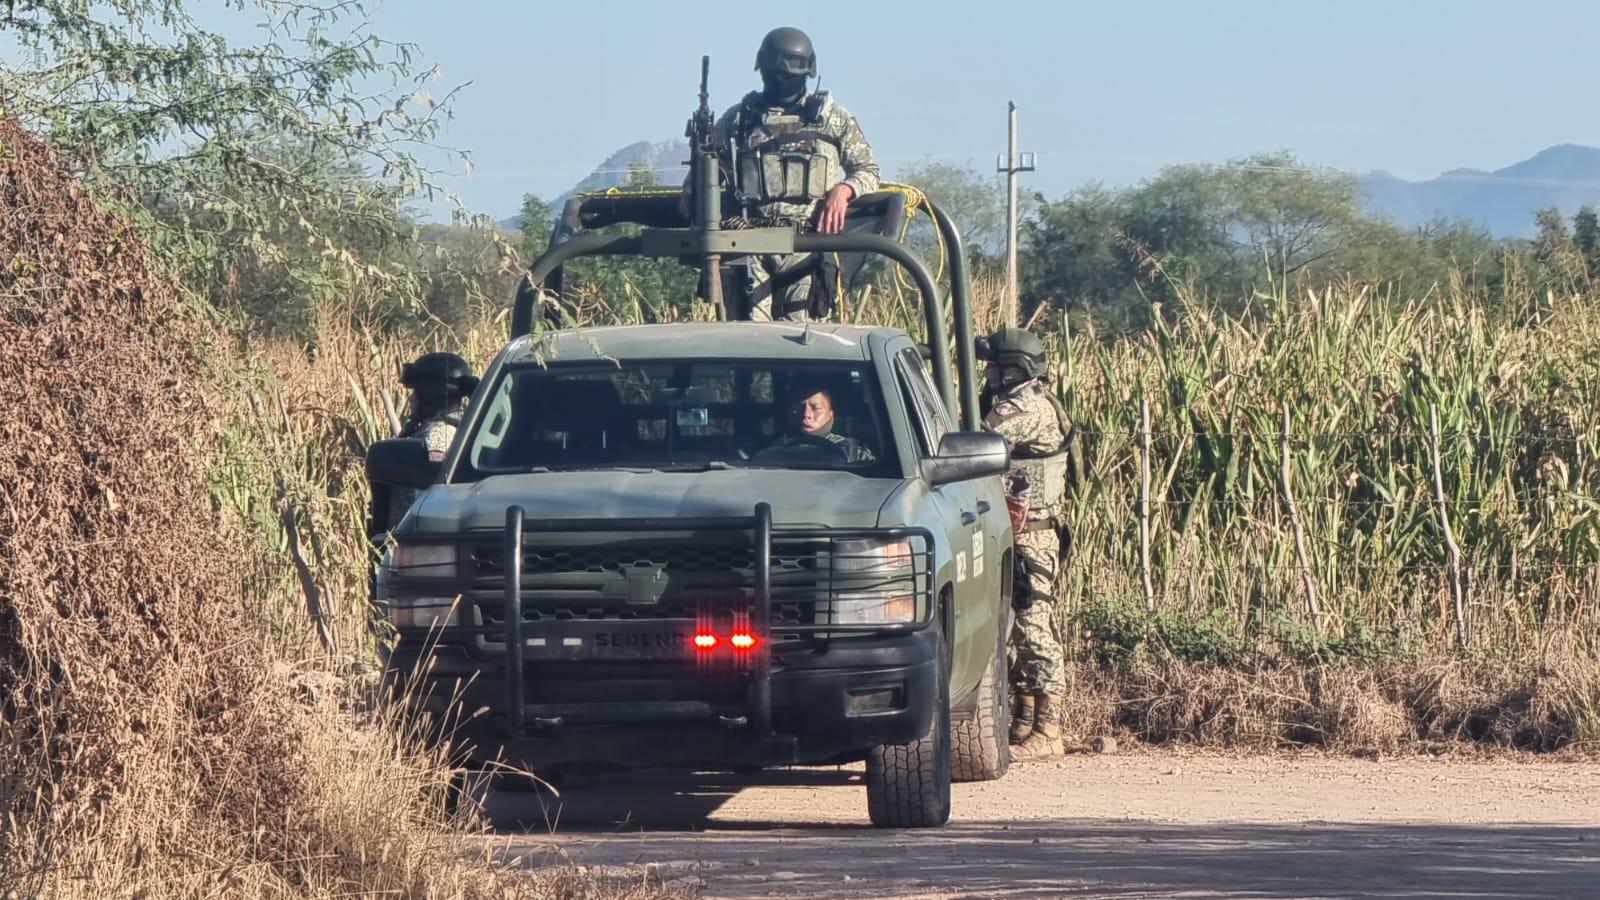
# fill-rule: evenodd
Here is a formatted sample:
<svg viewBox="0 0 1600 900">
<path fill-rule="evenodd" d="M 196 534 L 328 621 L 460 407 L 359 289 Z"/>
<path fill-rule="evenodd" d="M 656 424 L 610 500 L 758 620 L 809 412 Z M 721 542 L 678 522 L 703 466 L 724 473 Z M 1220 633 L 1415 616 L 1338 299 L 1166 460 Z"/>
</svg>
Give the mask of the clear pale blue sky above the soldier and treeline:
<svg viewBox="0 0 1600 900">
<path fill-rule="evenodd" d="M 738 101 L 781 24 L 811 34 L 822 86 L 890 171 L 992 170 L 1008 99 L 1038 154 L 1024 184 L 1046 194 L 1275 149 L 1429 178 L 1600 144 L 1600 3 L 1582 0 L 387 0 L 371 30 L 419 43 L 443 86 L 472 82 L 443 138 L 475 155 L 454 186 L 506 216 L 680 136 L 702 53 L 712 106 Z"/>
</svg>

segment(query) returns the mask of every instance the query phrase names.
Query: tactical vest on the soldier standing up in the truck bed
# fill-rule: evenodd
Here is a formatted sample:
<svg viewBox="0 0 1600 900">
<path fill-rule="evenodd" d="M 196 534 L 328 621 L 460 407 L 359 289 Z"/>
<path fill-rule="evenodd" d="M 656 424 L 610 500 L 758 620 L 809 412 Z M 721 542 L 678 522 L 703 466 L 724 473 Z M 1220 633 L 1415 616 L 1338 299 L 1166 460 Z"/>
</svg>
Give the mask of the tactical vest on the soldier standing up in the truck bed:
<svg viewBox="0 0 1600 900">
<path fill-rule="evenodd" d="M 806 98 L 798 114 L 774 112 L 760 91 L 746 94 L 734 127 L 739 194 L 747 205 L 813 203 L 827 197 L 843 170 L 838 138 L 821 128 L 827 91 Z"/>
</svg>

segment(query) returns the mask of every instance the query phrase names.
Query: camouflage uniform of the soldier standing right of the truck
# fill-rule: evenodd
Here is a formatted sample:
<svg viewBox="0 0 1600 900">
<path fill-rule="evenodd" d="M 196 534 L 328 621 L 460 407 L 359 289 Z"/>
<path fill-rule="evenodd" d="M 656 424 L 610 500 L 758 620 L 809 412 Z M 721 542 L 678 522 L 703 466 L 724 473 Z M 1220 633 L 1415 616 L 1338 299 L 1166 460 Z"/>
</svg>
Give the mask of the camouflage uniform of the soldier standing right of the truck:
<svg viewBox="0 0 1600 900">
<path fill-rule="evenodd" d="M 1027 569 L 1034 604 L 1016 615 L 1011 626 L 1008 661 L 1011 685 L 1019 693 L 1064 695 L 1066 657 L 1056 636 L 1056 569 L 1061 538 L 1053 517 L 1064 503 L 1064 479 L 1040 479 L 1035 461 L 1066 456 L 1067 431 L 1046 388 L 1026 381 L 995 397 L 984 423 L 1011 445 L 1013 472 L 1032 482 L 1027 530 L 1016 535 L 1016 552 Z M 1062 472 L 1066 464 L 1061 464 Z M 1040 484 L 1045 482 L 1045 484 Z"/>
</svg>

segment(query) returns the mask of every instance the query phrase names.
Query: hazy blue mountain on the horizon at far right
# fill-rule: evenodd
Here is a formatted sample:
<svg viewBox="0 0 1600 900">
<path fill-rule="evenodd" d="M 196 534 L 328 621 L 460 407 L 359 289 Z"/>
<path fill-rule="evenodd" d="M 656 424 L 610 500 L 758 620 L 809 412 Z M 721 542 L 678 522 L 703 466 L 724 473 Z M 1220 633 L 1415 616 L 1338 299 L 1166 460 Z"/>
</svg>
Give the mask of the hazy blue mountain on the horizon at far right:
<svg viewBox="0 0 1600 900">
<path fill-rule="evenodd" d="M 1600 147 L 1558 144 L 1494 171 L 1456 168 L 1427 181 L 1384 171 L 1358 181 L 1366 208 L 1403 226 L 1464 219 L 1494 237 L 1531 237 L 1541 207 L 1571 216 L 1586 203 L 1600 205 Z"/>
</svg>

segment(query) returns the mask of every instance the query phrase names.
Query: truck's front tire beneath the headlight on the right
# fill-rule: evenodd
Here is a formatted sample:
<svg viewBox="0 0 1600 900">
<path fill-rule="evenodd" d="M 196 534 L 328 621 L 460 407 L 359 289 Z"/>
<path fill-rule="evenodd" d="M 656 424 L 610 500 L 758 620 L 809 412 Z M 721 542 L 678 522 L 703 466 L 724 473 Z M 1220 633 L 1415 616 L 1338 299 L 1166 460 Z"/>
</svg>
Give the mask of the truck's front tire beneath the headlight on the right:
<svg viewBox="0 0 1600 900">
<path fill-rule="evenodd" d="M 878 828 L 939 828 L 950 820 L 950 650 L 934 617 L 933 721 L 910 743 L 867 753 L 867 817 Z"/>
</svg>

